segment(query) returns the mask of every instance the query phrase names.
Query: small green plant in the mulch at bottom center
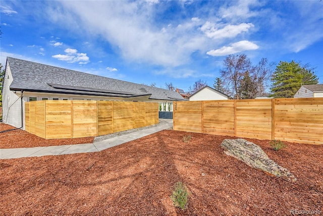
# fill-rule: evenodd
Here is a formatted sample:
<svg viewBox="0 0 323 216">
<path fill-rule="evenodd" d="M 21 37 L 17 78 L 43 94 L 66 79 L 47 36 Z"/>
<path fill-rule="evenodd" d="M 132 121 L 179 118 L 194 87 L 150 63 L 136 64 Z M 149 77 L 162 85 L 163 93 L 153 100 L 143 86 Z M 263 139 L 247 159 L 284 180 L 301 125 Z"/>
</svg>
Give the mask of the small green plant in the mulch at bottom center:
<svg viewBox="0 0 323 216">
<path fill-rule="evenodd" d="M 175 190 L 173 191 L 171 199 L 173 200 L 175 207 L 179 207 L 182 210 L 186 208 L 188 201 L 188 191 L 184 183 L 177 182 L 175 184 Z"/>
</svg>

